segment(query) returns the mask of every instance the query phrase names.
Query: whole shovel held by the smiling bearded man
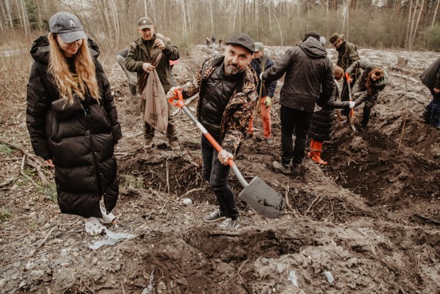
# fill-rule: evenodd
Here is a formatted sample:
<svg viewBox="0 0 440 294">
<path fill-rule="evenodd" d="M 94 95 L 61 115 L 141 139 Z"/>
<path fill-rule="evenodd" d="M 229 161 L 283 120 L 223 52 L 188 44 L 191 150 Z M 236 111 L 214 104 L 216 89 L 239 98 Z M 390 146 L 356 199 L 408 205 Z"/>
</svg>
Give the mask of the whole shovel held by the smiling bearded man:
<svg viewBox="0 0 440 294">
<path fill-rule="evenodd" d="M 203 135 L 209 140 L 214 148 L 220 152 L 223 150 L 219 143 L 212 138 L 211 134 L 199 123 L 199 121 L 192 115 L 188 107 L 186 107 L 183 96 L 180 90 L 175 90 L 175 93 L 179 97 L 178 100 L 169 98 L 168 102 L 180 107 L 186 115 L 192 120 L 192 123 L 197 125 Z M 250 183 L 246 182 L 245 178 L 241 175 L 239 168 L 236 167 L 234 160 L 228 160 L 228 164 L 234 171 L 235 176 L 239 179 L 240 184 L 243 186 L 243 191 L 240 193 L 240 198 L 248 203 L 250 207 L 257 212 L 262 213 L 266 218 L 279 218 L 283 216 L 285 209 L 285 199 L 278 194 L 274 189 L 267 185 L 261 178 L 254 177 Z"/>
</svg>

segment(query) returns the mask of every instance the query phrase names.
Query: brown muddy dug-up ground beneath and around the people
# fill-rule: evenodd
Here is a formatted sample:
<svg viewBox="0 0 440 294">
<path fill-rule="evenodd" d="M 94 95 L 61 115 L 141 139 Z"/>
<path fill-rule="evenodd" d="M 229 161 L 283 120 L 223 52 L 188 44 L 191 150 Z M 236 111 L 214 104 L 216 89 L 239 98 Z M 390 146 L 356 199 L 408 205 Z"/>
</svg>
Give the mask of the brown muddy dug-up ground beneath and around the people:
<svg viewBox="0 0 440 294">
<path fill-rule="evenodd" d="M 284 51 L 267 50 L 275 60 Z M 212 52 L 198 46 L 182 58 L 177 80 L 187 81 Z M 336 63 L 334 50 L 329 54 Z M 182 151 L 171 151 L 162 134 L 144 150 L 137 98 L 118 65 L 103 58 L 124 134 L 117 220 L 108 229 L 133 238 L 95 250 L 89 246 L 105 237 L 87 235 L 82 219 L 59 212 L 52 171 L 32 156 L 23 87 L 29 66 L 5 78 L 0 293 L 440 293 L 440 131 L 419 118 L 430 95 L 418 78 L 438 53 L 360 54 L 390 74 L 371 127 L 353 133 L 336 117 L 322 154 L 327 167 L 305 158 L 300 176 L 276 174 L 270 166 L 281 152 L 279 81 L 274 147 L 264 144 L 257 118 L 259 130 L 236 163 L 246 180 L 259 176 L 285 197 L 286 214 L 263 218 L 237 196 L 241 227 L 233 232 L 201 220 L 216 201 L 201 176 L 197 129 L 180 112 Z M 399 57 L 408 64 L 398 65 Z M 3 68 L 17 68 L 1 59 Z M 230 184 L 238 195 L 234 176 Z"/>
</svg>

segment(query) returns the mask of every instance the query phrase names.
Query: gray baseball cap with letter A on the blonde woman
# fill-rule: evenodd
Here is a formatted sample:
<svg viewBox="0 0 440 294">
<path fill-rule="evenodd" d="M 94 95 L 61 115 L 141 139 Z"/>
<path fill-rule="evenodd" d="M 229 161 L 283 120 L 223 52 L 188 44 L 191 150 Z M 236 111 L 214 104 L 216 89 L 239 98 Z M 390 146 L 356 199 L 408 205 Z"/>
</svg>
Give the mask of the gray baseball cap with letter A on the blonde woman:
<svg viewBox="0 0 440 294">
<path fill-rule="evenodd" d="M 58 12 L 49 21 L 50 32 L 58 34 L 66 43 L 72 43 L 79 39 L 87 39 L 80 20 L 69 12 Z"/>
</svg>

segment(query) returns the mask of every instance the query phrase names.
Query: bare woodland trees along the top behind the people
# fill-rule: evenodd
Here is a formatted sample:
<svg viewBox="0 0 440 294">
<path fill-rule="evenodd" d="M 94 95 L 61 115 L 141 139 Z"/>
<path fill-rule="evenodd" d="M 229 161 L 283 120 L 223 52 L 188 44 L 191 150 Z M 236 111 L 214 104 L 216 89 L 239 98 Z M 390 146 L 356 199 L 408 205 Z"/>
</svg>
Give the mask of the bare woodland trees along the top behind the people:
<svg viewBox="0 0 440 294">
<path fill-rule="evenodd" d="M 334 32 L 359 48 L 440 50 L 440 0 L 1 0 L 0 50 L 29 50 L 61 10 L 76 14 L 101 51 L 137 39 L 137 19 L 185 54 L 206 36 L 227 41 L 236 32 L 266 45 L 295 45 L 310 30 Z M 1 55 L 1 54 L 0 54 Z"/>
</svg>

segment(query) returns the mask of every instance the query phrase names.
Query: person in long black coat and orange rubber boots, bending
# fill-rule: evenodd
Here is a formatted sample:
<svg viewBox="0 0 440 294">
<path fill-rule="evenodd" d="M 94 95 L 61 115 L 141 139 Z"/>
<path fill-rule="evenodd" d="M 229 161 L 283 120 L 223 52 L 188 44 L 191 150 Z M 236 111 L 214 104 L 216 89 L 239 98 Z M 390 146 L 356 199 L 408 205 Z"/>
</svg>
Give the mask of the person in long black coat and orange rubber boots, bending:
<svg viewBox="0 0 440 294">
<path fill-rule="evenodd" d="M 333 129 L 333 112 L 336 108 L 353 108 L 353 101 L 337 101 L 339 97 L 338 81 L 344 76 L 342 67 L 333 67 L 333 76 L 335 77 L 335 87 L 329 101 L 318 111 L 314 112 L 311 118 L 309 133 L 307 136 L 310 140 L 310 152 L 308 154 L 311 160 L 318 162 L 320 165 L 327 165 L 327 161 L 322 160 L 321 150 L 322 142 L 330 140 L 331 130 Z"/>
</svg>

